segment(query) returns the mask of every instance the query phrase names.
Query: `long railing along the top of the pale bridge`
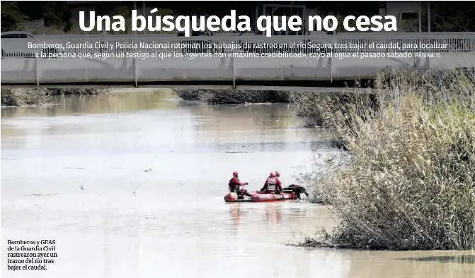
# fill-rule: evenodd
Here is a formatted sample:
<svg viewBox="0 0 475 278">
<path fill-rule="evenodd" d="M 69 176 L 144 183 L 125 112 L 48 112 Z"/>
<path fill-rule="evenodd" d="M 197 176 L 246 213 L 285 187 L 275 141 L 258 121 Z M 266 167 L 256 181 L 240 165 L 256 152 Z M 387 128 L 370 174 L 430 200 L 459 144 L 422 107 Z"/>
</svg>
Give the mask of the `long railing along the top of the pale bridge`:
<svg viewBox="0 0 475 278">
<path fill-rule="evenodd" d="M 292 45 L 292 47 L 290 47 Z M 112 46 L 112 47 L 111 47 Z M 272 47 L 269 47 L 272 46 Z M 131 36 L 106 37 L 48 36 L 35 39 L 1 40 L 1 57 L 54 57 L 55 53 L 74 56 L 101 54 L 124 56 L 130 52 L 147 53 L 231 53 L 263 54 L 275 52 L 475 52 L 475 33 L 444 34 L 367 34 L 367 35 L 309 35 L 309 36 Z M 41 55 L 43 54 L 43 55 Z"/>
</svg>

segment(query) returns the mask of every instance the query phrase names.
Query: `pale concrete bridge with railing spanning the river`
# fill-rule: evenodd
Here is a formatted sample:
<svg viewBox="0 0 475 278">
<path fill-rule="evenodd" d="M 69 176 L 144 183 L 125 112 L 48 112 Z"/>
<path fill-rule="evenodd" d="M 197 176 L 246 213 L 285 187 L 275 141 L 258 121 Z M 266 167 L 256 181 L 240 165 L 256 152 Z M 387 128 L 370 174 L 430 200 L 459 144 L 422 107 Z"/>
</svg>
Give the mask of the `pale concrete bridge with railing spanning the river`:
<svg viewBox="0 0 475 278">
<path fill-rule="evenodd" d="M 472 32 L 46 36 L 4 39 L 1 47 L 1 85 L 8 87 L 317 87 L 370 79 L 385 67 L 475 67 Z"/>
</svg>

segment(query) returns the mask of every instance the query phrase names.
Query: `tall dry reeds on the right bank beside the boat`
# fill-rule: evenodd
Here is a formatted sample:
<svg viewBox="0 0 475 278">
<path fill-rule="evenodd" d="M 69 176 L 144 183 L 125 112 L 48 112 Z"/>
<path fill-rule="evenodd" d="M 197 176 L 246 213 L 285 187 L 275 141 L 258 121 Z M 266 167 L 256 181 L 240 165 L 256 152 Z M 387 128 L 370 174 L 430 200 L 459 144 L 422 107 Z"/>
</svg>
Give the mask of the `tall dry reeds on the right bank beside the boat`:
<svg viewBox="0 0 475 278">
<path fill-rule="evenodd" d="M 303 178 L 337 226 L 299 245 L 475 248 L 473 71 L 391 70 L 376 84 L 377 107 L 328 111 L 348 152 Z"/>
</svg>

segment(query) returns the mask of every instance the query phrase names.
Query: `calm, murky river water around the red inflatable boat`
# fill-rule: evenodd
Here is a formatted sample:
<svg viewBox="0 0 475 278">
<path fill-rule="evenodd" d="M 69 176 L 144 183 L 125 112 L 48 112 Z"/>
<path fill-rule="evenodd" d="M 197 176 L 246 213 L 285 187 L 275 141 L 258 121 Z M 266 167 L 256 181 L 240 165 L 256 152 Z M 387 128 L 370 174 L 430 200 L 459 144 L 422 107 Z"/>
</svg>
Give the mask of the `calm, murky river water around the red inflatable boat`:
<svg viewBox="0 0 475 278">
<path fill-rule="evenodd" d="M 286 246 L 334 225 L 321 205 L 225 204 L 234 170 L 251 190 L 275 170 L 288 185 L 322 159 L 312 150 L 338 151 L 286 104 L 168 91 L 56 104 L 1 110 L 1 277 L 475 277 L 474 252 Z M 7 270 L 8 239 L 54 239 L 55 263 Z"/>
</svg>

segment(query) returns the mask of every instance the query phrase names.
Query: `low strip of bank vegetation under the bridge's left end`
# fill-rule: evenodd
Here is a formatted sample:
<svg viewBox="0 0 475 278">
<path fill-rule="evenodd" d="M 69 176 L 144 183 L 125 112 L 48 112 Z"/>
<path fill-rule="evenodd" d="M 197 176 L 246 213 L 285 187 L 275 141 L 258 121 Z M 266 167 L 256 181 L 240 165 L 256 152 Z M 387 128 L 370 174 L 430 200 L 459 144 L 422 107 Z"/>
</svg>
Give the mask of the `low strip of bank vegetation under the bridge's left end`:
<svg viewBox="0 0 475 278">
<path fill-rule="evenodd" d="M 54 95 L 101 95 L 111 92 L 109 88 L 2 88 L 2 106 L 49 104 Z"/>
</svg>

